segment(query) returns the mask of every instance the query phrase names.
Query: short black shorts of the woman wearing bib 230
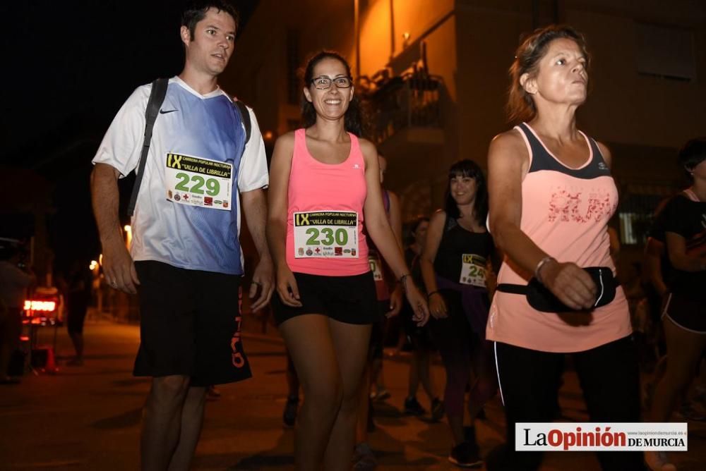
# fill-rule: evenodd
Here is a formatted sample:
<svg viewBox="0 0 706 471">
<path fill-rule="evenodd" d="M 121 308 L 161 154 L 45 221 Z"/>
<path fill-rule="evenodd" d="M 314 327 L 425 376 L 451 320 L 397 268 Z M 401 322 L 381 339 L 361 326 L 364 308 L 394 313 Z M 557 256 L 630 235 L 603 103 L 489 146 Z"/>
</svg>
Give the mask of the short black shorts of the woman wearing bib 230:
<svg viewBox="0 0 706 471">
<path fill-rule="evenodd" d="M 373 324 L 381 319 L 371 271 L 353 276 L 321 276 L 295 273 L 301 307 L 285 305 L 272 297 L 277 325 L 302 314 L 324 314 L 346 324 Z"/>
</svg>

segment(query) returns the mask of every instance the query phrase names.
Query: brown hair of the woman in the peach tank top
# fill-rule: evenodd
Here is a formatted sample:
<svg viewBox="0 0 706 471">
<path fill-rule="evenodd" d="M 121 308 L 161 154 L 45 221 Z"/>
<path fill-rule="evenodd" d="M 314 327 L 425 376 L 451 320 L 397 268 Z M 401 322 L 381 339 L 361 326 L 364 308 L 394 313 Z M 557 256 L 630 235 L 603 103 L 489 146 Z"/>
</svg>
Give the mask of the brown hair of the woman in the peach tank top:
<svg viewBox="0 0 706 471">
<path fill-rule="evenodd" d="M 537 107 L 534 106 L 532 95 L 522 87 L 520 78 L 525 73 L 536 75 L 539 71 L 539 61 L 542 60 L 549 44 L 554 39 L 571 39 L 578 44 L 579 49 L 586 58 L 586 70 L 590 63 L 590 55 L 586 47 L 586 39 L 583 35 L 568 25 L 549 25 L 534 30 L 531 35 L 525 38 L 515 51 L 515 61 L 510 66 L 510 90 L 508 91 L 508 118 L 510 123 L 521 121 L 532 121 L 537 114 Z"/>
</svg>

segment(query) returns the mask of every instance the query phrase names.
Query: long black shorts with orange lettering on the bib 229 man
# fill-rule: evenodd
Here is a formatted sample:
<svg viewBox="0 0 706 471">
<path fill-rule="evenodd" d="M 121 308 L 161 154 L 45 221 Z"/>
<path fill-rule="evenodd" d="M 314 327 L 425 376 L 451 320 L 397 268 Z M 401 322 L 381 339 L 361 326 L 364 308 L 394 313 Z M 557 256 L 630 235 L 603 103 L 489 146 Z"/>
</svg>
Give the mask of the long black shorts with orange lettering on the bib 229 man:
<svg viewBox="0 0 706 471">
<path fill-rule="evenodd" d="M 252 376 L 240 336 L 240 276 L 135 262 L 140 350 L 135 376 L 191 377 L 192 386 Z"/>
</svg>

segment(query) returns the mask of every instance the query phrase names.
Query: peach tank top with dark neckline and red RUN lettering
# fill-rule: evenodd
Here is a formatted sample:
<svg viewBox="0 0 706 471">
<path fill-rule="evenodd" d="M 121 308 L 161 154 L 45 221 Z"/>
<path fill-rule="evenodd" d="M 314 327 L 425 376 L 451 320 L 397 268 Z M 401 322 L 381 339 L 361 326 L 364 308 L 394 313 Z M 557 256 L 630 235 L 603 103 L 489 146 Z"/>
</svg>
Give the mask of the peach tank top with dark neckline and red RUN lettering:
<svg viewBox="0 0 706 471">
<path fill-rule="evenodd" d="M 596 142 L 582 133 L 590 156 L 580 168 L 571 169 L 546 149 L 527 123 L 515 129 L 530 153 L 530 170 L 522 181 L 522 232 L 559 262 L 610 267 L 615 273 L 607 226 L 618 206 L 618 191 Z M 506 258 L 498 283 L 525 285 L 531 277 Z M 620 287 L 613 302 L 590 314 L 538 312 L 523 295 L 496 292 L 486 326 L 489 340 L 559 353 L 590 350 L 631 332 L 628 302 Z"/>
</svg>

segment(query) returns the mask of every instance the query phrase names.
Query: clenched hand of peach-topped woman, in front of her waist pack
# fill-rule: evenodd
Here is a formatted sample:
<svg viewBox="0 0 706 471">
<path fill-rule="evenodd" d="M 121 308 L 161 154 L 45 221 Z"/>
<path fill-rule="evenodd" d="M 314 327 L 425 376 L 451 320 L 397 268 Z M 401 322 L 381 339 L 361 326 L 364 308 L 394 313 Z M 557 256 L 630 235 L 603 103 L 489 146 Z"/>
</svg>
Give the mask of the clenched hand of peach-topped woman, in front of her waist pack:
<svg viewBox="0 0 706 471">
<path fill-rule="evenodd" d="M 537 274 L 544 286 L 573 310 L 591 309 L 596 302 L 597 286 L 591 276 L 574 263 L 546 262 Z"/>
</svg>

